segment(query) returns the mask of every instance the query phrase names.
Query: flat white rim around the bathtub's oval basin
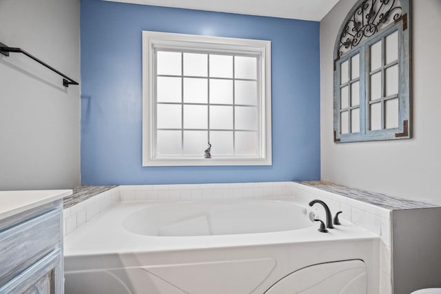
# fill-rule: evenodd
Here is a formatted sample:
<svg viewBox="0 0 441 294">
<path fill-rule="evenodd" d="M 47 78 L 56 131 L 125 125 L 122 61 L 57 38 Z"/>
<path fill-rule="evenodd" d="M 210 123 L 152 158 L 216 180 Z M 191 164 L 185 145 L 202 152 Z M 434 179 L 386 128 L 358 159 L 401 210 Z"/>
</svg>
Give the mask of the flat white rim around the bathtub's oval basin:
<svg viewBox="0 0 441 294">
<path fill-rule="evenodd" d="M 254 199 L 254 198 L 247 198 Z M 262 200 L 263 198 L 256 198 Z M 305 207 L 294 198 L 268 198 L 269 200 L 285 200 Z M 176 202 L 176 200 L 148 200 L 121 202 L 111 207 L 99 217 L 94 218 L 83 227 L 74 231 L 65 238 L 64 255 L 86 256 L 86 255 L 105 255 L 105 254 L 128 254 L 128 253 L 163 253 L 170 251 L 185 251 L 192 249 L 216 249 L 224 247 L 243 247 L 243 246 L 265 246 L 274 244 L 294 244 L 307 242 L 329 242 L 329 241 L 353 241 L 380 239 L 380 236 L 367 231 L 361 227 L 342 221 L 341 226 L 329 230 L 329 233 L 317 231 L 318 224 L 305 229 L 291 231 L 278 231 L 267 233 L 247 233 L 237 235 L 203 235 L 203 236 L 150 236 L 139 235 L 125 231 L 121 227 L 123 216 L 120 210 L 134 211 L 136 205 L 155 204 L 165 202 Z M 305 207 L 306 208 L 306 207 Z M 139 207 L 137 208 L 139 209 Z M 114 218 L 119 214 L 118 218 Z M 127 213 L 127 212 L 126 212 Z M 96 233 L 96 229 L 104 226 L 104 231 Z M 111 229 L 110 229 L 111 228 Z M 116 228 L 116 230 L 115 230 Z M 103 228 L 101 228 L 103 229 Z M 107 229 L 107 231 L 105 230 Z M 106 233 L 110 234 L 106 235 Z M 182 244 L 186 242 L 186 244 Z"/>
</svg>

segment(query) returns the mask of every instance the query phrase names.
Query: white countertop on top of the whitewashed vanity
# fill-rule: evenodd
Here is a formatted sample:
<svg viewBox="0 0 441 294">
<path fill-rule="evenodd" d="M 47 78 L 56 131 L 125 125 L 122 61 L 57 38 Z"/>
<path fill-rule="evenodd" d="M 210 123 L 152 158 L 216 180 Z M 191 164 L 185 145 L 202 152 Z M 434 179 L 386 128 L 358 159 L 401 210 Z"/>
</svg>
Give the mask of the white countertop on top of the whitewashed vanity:
<svg viewBox="0 0 441 294">
<path fill-rule="evenodd" d="M 70 194 L 72 190 L 0 191 L 0 220 Z"/>
</svg>

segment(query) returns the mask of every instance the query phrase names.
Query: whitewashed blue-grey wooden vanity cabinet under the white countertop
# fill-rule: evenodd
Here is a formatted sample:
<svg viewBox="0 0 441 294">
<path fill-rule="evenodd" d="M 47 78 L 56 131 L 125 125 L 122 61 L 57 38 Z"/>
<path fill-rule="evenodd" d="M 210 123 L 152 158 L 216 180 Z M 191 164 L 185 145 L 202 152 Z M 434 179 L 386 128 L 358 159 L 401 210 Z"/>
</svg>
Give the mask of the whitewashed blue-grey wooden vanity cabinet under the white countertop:
<svg viewBox="0 0 441 294">
<path fill-rule="evenodd" d="M 0 218 L 0 294 L 64 293 L 63 200 L 49 200 Z"/>
</svg>

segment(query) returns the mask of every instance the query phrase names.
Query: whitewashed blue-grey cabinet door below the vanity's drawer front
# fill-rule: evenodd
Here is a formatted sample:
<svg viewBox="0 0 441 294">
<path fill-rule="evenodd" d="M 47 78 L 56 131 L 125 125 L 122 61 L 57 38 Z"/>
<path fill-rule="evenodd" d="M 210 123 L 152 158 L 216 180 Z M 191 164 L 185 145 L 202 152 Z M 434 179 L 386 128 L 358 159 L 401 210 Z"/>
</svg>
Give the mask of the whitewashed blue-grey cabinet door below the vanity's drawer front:
<svg viewBox="0 0 441 294">
<path fill-rule="evenodd" d="M 0 286 L 0 293 L 8 294 L 62 294 L 61 251 L 52 251 L 28 269 Z"/>
</svg>

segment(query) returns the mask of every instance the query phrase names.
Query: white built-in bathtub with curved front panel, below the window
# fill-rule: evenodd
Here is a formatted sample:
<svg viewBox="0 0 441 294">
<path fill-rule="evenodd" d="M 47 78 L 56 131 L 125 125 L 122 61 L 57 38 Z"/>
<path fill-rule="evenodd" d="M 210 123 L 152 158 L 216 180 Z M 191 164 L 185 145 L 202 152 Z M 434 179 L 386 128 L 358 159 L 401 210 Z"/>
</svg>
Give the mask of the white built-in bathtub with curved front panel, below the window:
<svg viewBox="0 0 441 294">
<path fill-rule="evenodd" d="M 125 202 L 65 240 L 65 293 L 378 293 L 378 236 L 289 199 Z M 325 292 L 323 292 L 325 291 Z"/>
</svg>

